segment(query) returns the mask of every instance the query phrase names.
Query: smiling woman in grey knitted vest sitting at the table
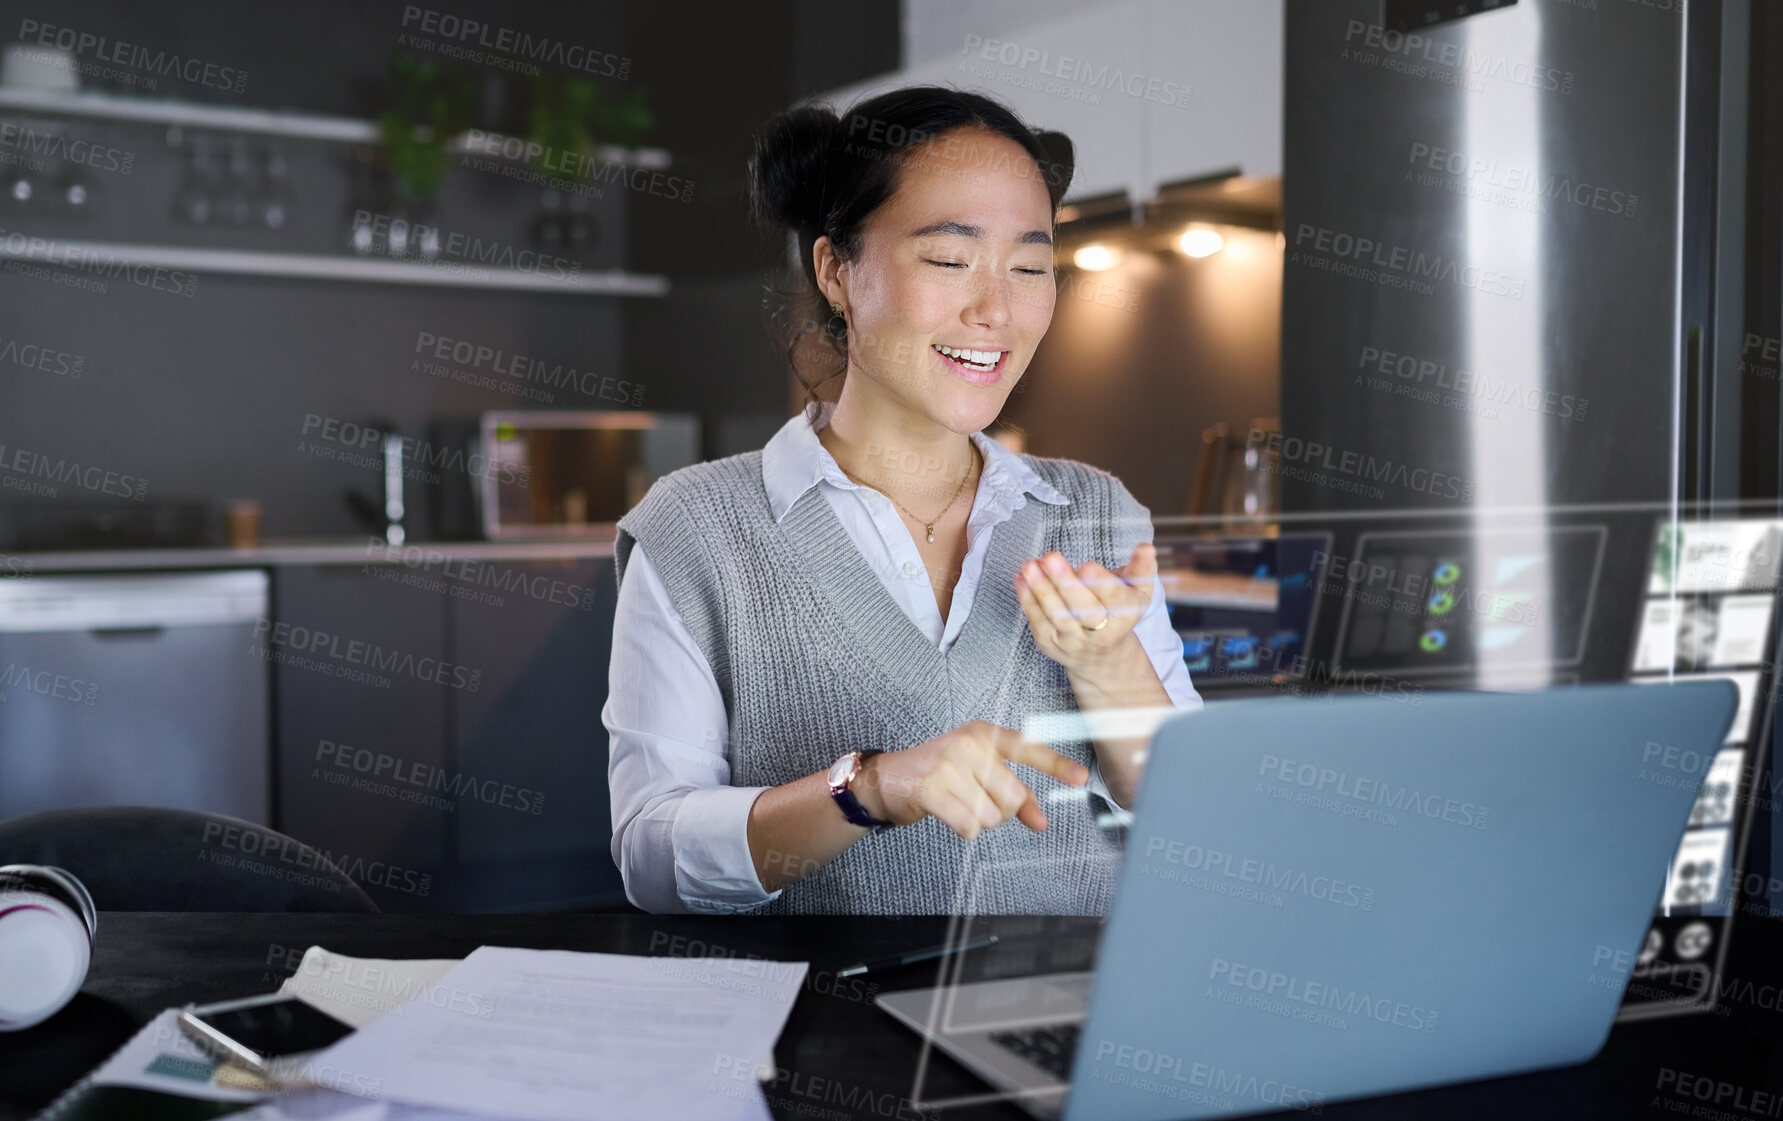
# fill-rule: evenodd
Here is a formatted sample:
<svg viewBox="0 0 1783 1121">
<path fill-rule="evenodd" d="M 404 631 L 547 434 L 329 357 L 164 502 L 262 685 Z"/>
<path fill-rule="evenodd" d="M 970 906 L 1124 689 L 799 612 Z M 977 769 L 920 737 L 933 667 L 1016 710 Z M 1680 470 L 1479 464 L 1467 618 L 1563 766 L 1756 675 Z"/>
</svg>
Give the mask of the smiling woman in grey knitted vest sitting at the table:
<svg viewBox="0 0 1783 1121">
<path fill-rule="evenodd" d="M 1104 912 L 1120 850 L 1095 802 L 1132 804 L 1145 740 L 1052 750 L 1016 729 L 1200 697 L 1146 508 L 982 433 L 1052 321 L 1072 144 L 909 87 L 779 114 L 751 171 L 758 216 L 797 233 L 788 356 L 813 397 L 619 522 L 603 720 L 626 893 Z M 806 380 L 824 349 L 834 403 Z"/>
</svg>

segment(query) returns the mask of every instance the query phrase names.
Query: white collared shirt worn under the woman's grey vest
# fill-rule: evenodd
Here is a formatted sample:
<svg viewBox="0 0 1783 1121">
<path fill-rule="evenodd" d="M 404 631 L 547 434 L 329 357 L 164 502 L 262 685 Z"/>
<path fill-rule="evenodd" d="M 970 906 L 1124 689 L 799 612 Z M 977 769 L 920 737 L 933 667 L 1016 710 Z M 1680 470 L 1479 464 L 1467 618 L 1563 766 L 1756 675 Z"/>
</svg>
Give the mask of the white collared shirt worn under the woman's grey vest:
<svg viewBox="0 0 1783 1121">
<path fill-rule="evenodd" d="M 833 412 L 834 405 L 826 403 L 817 426 L 827 424 Z M 972 442 L 984 454 L 984 474 L 966 520 L 966 556 L 945 622 L 916 542 L 892 499 L 849 479 L 802 413 L 788 419 L 761 449 L 761 479 L 774 520 L 817 487 L 904 615 L 947 651 L 972 613 L 991 531 L 1025 506 L 1029 495 L 1070 504 L 997 440 L 975 431 Z M 626 572 L 631 579 L 619 590 L 601 709 L 612 740 L 613 863 L 626 880 L 626 896 L 651 912 L 722 914 L 767 904 L 779 891 L 761 888 L 747 834 L 749 807 L 767 788 L 729 784 L 729 716 L 719 683 L 642 545 L 633 544 Z M 1157 579 L 1134 633 L 1171 704 L 1200 708 Z M 1097 766 L 1089 768 L 1089 790 L 1109 798 Z"/>
</svg>

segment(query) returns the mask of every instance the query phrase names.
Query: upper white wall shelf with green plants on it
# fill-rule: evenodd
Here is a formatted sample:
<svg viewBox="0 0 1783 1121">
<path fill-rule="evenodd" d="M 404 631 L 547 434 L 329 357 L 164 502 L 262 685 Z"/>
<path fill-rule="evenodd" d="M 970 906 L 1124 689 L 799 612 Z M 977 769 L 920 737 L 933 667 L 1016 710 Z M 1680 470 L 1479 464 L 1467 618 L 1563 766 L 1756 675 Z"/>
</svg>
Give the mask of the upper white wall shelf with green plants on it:
<svg viewBox="0 0 1783 1121">
<path fill-rule="evenodd" d="M 223 132 L 251 132 L 298 141 L 328 141 L 335 144 L 382 144 L 383 134 L 376 121 L 337 118 L 283 109 L 234 109 L 228 105 L 198 105 L 162 98 L 130 98 L 105 93 L 46 93 L 41 89 L 0 87 L 0 109 L 14 112 L 45 112 L 53 116 L 98 118 L 111 121 L 141 121 L 148 125 L 177 125 L 184 128 L 218 128 Z M 485 146 L 499 148 L 508 137 L 485 135 Z M 469 153 L 464 137 L 449 144 L 453 153 Z M 476 155 L 505 159 L 499 153 L 474 150 Z M 670 157 L 661 148 L 619 148 L 603 144 L 596 155 L 612 164 L 628 164 L 663 171 Z"/>
</svg>

